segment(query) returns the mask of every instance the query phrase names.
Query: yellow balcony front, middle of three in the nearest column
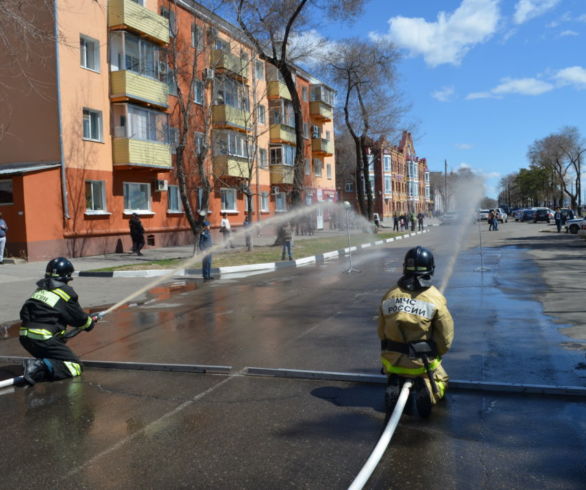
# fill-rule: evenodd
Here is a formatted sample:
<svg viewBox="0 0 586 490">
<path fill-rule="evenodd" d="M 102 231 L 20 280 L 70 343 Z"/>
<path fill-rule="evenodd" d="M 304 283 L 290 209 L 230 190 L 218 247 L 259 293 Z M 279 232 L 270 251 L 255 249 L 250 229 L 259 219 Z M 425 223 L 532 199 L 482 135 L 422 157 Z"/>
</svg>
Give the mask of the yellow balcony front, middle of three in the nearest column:
<svg viewBox="0 0 586 490">
<path fill-rule="evenodd" d="M 135 100 L 167 108 L 167 84 L 131 71 L 110 72 L 110 98 L 113 101 Z"/>
</svg>

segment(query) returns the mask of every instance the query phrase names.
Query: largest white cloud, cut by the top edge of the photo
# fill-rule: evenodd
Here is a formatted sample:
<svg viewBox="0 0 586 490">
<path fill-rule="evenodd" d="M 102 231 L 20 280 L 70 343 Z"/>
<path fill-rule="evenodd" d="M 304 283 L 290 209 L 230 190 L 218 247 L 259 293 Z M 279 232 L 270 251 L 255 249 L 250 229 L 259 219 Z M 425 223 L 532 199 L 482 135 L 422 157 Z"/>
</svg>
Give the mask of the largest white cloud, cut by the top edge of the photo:
<svg viewBox="0 0 586 490">
<path fill-rule="evenodd" d="M 420 17 L 392 17 L 387 34 L 371 33 L 371 37 L 387 38 L 412 56 L 423 56 L 430 66 L 459 65 L 474 45 L 496 31 L 499 1 L 462 0 L 453 12 L 440 12 L 435 22 Z"/>
</svg>

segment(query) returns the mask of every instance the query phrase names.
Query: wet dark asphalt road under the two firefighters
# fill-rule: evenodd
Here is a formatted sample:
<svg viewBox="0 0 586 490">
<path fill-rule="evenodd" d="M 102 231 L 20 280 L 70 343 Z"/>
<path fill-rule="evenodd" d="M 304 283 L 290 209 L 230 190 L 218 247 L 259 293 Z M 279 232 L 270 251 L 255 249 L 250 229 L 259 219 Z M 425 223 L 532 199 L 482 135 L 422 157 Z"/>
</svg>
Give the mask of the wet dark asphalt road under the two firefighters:
<svg viewBox="0 0 586 490">
<path fill-rule="evenodd" d="M 552 314 L 544 266 L 562 247 L 579 264 L 581 242 L 510 223 L 482 231 L 481 255 L 472 228 L 451 275 L 456 236 L 442 228 L 353 256 L 352 274 L 339 261 L 176 284 L 117 310 L 71 341 L 83 359 L 228 365 L 233 375 L 87 369 L 6 393 L 0 488 L 347 488 L 382 430 L 382 387 L 239 373 L 377 373 L 373 317 L 416 244 L 436 254 L 438 283 L 450 275 L 452 379 L 584 386 L 579 322 L 559 324 L 583 306 Z M 585 283 L 571 294 L 584 297 Z M 24 353 L 11 339 L 0 355 Z M 404 415 L 367 487 L 584 488 L 585 421 L 583 399 L 453 391 L 428 421 Z"/>
</svg>

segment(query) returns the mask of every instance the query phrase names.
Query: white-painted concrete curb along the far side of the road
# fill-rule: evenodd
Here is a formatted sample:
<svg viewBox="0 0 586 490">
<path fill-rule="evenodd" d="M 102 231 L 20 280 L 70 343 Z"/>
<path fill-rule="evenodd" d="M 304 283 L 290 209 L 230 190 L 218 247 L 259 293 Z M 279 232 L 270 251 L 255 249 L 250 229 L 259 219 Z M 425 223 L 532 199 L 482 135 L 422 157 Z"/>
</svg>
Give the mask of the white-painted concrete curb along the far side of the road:
<svg viewBox="0 0 586 490">
<path fill-rule="evenodd" d="M 337 259 L 345 257 L 350 252 L 356 252 L 359 249 L 367 249 L 371 247 L 378 247 L 386 243 L 392 243 L 397 240 L 403 240 L 423 233 L 428 233 L 429 229 L 423 231 L 415 231 L 405 235 L 397 236 L 394 238 L 385 238 L 384 240 L 376 240 L 370 243 L 363 243 L 354 247 L 346 247 L 340 250 L 333 250 L 331 252 L 324 252 L 323 254 L 313 255 L 309 257 L 303 257 L 302 259 L 282 261 L 282 262 L 267 262 L 263 264 L 249 264 L 249 265 L 235 265 L 228 267 L 217 267 L 212 268 L 212 274 L 216 276 L 226 276 L 230 274 L 239 274 L 246 272 L 271 272 L 277 269 L 283 269 L 288 267 L 303 267 L 310 264 L 323 264 L 326 260 Z M 104 271 L 104 272 L 92 272 L 92 271 L 81 271 L 74 272 L 74 276 L 78 277 L 159 277 L 173 272 L 173 269 L 146 269 L 146 270 L 130 270 L 130 271 Z M 201 269 L 178 269 L 175 271 L 175 276 L 201 276 Z"/>
</svg>

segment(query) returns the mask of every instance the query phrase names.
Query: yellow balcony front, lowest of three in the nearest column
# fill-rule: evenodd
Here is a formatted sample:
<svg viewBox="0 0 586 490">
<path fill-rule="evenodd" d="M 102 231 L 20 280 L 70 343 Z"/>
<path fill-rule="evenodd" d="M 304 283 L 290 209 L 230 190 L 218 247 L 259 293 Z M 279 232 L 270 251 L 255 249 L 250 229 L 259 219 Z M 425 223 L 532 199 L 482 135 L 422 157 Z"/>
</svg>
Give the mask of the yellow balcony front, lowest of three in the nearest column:
<svg viewBox="0 0 586 490">
<path fill-rule="evenodd" d="M 170 146 L 153 141 L 113 138 L 112 160 L 115 167 L 149 167 L 159 171 L 171 170 Z"/>
</svg>

